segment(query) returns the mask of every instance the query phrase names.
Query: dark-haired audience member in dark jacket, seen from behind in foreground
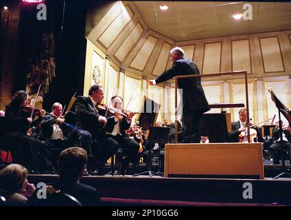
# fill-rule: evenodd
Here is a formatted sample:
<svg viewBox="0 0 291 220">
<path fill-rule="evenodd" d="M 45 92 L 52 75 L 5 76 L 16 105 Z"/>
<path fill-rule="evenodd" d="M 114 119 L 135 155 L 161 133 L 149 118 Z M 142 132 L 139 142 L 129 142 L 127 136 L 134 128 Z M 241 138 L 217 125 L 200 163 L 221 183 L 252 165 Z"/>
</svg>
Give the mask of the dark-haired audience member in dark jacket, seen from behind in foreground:
<svg viewBox="0 0 291 220">
<path fill-rule="evenodd" d="M 82 203 L 82 206 L 99 206 L 100 195 L 96 188 L 80 184 L 80 179 L 86 170 L 88 156 L 80 147 L 70 147 L 62 151 L 58 157 L 60 178 L 58 188 L 61 192 L 72 195 Z"/>
</svg>

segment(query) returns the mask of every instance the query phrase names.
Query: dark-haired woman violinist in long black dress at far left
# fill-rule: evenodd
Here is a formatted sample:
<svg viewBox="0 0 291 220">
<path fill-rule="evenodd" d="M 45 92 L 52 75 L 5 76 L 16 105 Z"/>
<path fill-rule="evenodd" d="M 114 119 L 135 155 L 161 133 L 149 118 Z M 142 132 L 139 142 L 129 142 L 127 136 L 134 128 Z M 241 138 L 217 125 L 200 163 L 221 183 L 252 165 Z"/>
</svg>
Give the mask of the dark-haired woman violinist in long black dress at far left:
<svg viewBox="0 0 291 220">
<path fill-rule="evenodd" d="M 3 140 L 12 143 L 11 146 L 19 146 L 11 148 L 14 162 L 27 167 L 30 173 L 47 171 L 52 168 L 48 152 L 40 140 L 27 135 L 27 129 L 32 124 L 30 113 L 22 111 L 23 107 L 28 105 L 27 100 L 28 95 L 25 91 L 16 91 L 5 107 L 7 129 L 3 135 Z M 21 152 L 21 157 L 17 151 Z"/>
</svg>

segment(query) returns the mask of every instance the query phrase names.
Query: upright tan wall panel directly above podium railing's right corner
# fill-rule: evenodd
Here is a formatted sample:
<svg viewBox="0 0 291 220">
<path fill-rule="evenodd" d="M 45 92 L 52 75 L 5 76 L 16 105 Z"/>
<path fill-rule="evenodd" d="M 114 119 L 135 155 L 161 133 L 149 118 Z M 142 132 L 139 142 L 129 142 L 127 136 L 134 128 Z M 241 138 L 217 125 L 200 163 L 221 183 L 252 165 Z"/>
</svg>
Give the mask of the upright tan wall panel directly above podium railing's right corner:
<svg viewBox="0 0 291 220">
<path fill-rule="evenodd" d="M 232 71 L 247 70 L 252 72 L 250 42 L 246 40 L 231 41 Z"/>
</svg>

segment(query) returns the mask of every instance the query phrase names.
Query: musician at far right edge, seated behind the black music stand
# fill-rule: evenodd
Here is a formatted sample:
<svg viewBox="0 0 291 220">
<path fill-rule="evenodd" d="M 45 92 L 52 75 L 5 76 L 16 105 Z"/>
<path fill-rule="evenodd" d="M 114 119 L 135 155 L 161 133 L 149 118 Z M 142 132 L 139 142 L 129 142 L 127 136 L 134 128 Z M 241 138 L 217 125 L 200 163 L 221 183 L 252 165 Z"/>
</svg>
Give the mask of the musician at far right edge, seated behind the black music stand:
<svg viewBox="0 0 291 220">
<path fill-rule="evenodd" d="M 290 126 L 283 125 L 282 123 L 282 137 L 283 137 L 283 149 L 289 152 L 289 158 L 291 159 L 291 135 L 290 135 Z M 272 135 L 272 144 L 269 147 L 269 151 L 273 158 L 273 164 L 279 164 L 279 159 L 281 159 L 281 142 L 280 142 L 280 129 L 279 121 L 276 122 L 275 131 Z M 285 156 L 285 155 L 284 155 Z"/>
</svg>

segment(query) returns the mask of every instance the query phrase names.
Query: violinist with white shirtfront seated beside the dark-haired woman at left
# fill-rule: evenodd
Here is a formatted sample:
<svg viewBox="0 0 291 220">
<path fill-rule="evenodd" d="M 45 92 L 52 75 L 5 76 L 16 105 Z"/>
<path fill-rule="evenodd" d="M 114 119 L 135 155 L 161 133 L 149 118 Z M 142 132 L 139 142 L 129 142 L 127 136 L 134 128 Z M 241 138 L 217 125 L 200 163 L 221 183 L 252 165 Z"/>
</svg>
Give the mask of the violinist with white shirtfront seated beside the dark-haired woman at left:
<svg viewBox="0 0 291 220">
<path fill-rule="evenodd" d="M 51 114 L 45 115 L 40 122 L 40 140 L 43 145 L 51 151 L 52 149 L 63 150 L 69 147 L 67 140 L 69 140 L 69 134 L 72 132 L 70 126 L 65 123 L 65 118 L 62 116 L 62 104 L 55 102 L 51 107 Z M 58 152 L 60 153 L 60 152 Z M 56 153 L 51 152 L 51 155 Z M 58 155 L 54 157 L 54 164 Z"/>
</svg>

